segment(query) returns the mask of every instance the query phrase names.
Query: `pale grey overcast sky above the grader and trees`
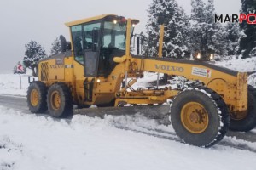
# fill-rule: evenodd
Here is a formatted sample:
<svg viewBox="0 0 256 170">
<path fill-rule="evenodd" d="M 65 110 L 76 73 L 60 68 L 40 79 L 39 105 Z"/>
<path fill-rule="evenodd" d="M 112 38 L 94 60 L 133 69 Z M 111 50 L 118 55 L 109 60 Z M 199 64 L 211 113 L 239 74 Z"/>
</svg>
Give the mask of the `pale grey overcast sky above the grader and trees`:
<svg viewBox="0 0 256 170">
<path fill-rule="evenodd" d="M 204 0 L 207 2 L 207 0 Z M 215 0 L 218 14 L 239 14 L 241 0 Z M 119 14 L 141 20 L 144 31 L 152 0 L 0 0 L 0 73 L 10 72 L 24 57 L 24 45 L 35 40 L 49 54 L 51 43 L 61 34 L 70 39 L 64 23 L 99 14 Z M 190 0 L 177 0 L 190 14 Z"/>
</svg>

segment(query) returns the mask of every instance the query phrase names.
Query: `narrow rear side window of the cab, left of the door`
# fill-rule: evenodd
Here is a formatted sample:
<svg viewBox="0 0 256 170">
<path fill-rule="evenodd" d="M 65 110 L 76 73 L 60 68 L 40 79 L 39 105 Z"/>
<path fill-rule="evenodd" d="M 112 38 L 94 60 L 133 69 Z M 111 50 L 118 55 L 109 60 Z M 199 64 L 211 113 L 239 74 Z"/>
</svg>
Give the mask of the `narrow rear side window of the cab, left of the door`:
<svg viewBox="0 0 256 170">
<path fill-rule="evenodd" d="M 84 63 L 83 54 L 83 36 L 82 36 L 82 26 L 72 26 L 71 27 L 72 37 L 73 37 L 73 53 L 74 58 L 79 63 Z"/>
</svg>

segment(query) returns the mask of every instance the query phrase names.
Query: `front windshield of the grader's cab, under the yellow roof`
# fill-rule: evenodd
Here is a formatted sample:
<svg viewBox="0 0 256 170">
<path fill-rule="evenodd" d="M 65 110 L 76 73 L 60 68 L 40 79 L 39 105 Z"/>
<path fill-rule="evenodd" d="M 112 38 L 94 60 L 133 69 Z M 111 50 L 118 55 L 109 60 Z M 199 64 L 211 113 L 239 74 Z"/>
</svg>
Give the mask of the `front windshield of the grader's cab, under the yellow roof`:
<svg viewBox="0 0 256 170">
<path fill-rule="evenodd" d="M 133 30 L 133 29 L 131 29 Z M 131 31 L 132 32 L 132 31 Z M 103 48 L 125 50 L 126 23 L 105 21 L 102 37 Z"/>
</svg>

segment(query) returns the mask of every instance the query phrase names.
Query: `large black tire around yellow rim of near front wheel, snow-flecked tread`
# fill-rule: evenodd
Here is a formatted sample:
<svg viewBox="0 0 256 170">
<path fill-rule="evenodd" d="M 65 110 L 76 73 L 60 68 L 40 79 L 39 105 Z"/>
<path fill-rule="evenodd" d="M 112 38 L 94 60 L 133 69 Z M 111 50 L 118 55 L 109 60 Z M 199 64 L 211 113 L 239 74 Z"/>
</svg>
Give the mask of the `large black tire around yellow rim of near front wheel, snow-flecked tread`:
<svg viewBox="0 0 256 170">
<path fill-rule="evenodd" d="M 208 126 L 202 133 L 190 133 L 181 121 L 183 105 L 189 102 L 201 104 L 208 113 Z M 199 147 L 210 147 L 224 138 L 230 125 L 230 116 L 224 100 L 210 88 L 188 88 L 172 100 L 171 122 L 177 136 L 183 142 Z"/>
</svg>

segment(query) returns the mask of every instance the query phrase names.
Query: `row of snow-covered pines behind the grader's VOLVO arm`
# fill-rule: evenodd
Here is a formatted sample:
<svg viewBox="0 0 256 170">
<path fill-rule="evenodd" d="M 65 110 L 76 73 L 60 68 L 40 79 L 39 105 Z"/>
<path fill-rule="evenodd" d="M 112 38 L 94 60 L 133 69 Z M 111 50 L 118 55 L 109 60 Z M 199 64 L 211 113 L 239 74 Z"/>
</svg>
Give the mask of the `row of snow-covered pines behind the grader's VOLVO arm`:
<svg viewBox="0 0 256 170">
<path fill-rule="evenodd" d="M 185 14 L 176 0 L 153 0 L 148 8 L 146 34 L 143 34 L 144 53 L 158 54 L 159 19 L 165 25 L 164 57 L 184 58 L 200 52 L 203 56 L 236 55 L 246 59 L 256 55 L 256 25 L 215 23 L 214 0 L 204 3 L 191 0 L 191 14 Z M 253 13 L 256 2 L 241 0 L 241 14 Z"/>
</svg>

